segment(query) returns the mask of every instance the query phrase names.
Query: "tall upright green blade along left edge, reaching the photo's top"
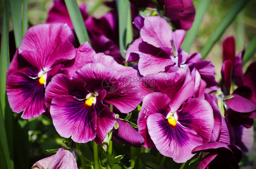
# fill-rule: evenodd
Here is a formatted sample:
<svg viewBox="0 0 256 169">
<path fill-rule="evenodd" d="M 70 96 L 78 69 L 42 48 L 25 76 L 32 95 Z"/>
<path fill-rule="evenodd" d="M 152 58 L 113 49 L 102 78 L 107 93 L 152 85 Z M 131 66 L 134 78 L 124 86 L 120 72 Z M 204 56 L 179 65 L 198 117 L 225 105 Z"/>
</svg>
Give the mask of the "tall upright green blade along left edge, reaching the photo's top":
<svg viewBox="0 0 256 169">
<path fill-rule="evenodd" d="M 10 65 L 9 58 L 9 1 L 5 0 L 3 26 L 2 26 L 2 39 L 0 50 L 0 101 L 2 105 L 3 117 L 5 119 L 5 81 L 6 71 Z"/>
</svg>

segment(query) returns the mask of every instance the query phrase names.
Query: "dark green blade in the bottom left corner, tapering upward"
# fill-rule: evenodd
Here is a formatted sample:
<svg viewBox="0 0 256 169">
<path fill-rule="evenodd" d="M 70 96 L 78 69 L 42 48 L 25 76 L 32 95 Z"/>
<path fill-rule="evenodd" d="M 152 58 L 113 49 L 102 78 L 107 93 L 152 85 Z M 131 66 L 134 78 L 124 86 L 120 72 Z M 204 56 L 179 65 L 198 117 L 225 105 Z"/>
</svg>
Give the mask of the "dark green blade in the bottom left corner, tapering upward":
<svg viewBox="0 0 256 169">
<path fill-rule="evenodd" d="M 5 132 L 5 120 L 0 104 L 0 169 L 10 169 L 10 154 Z"/>
</svg>

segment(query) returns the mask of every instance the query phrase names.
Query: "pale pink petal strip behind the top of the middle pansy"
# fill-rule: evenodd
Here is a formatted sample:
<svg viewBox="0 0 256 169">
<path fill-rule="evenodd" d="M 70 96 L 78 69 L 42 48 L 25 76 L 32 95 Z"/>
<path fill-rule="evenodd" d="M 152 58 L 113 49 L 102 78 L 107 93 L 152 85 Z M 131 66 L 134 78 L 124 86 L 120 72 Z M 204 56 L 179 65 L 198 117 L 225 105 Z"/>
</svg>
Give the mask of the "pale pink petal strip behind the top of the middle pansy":
<svg viewBox="0 0 256 169">
<path fill-rule="evenodd" d="M 137 70 L 133 69 L 132 67 L 120 65 L 114 60 L 113 57 L 104 55 L 103 53 L 97 53 L 93 55 L 92 62 L 106 65 L 110 68 L 113 68 L 114 70 L 117 70 L 118 72 L 121 72 L 124 75 L 128 75 L 131 77 L 138 76 Z"/>
</svg>

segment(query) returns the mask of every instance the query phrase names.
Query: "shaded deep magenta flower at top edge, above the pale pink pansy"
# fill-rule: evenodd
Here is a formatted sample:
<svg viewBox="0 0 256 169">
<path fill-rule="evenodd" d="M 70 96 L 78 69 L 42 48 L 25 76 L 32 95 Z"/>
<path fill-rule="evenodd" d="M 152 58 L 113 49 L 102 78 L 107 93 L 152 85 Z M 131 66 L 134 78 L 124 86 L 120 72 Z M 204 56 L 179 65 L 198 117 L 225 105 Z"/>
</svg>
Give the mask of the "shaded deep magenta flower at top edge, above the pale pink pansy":
<svg viewBox="0 0 256 169">
<path fill-rule="evenodd" d="M 158 10 L 164 10 L 164 16 L 167 16 L 171 23 L 177 29 L 189 30 L 195 18 L 195 7 L 192 0 L 157 0 Z M 151 0 L 130 0 L 138 7 L 154 8 Z"/>
</svg>

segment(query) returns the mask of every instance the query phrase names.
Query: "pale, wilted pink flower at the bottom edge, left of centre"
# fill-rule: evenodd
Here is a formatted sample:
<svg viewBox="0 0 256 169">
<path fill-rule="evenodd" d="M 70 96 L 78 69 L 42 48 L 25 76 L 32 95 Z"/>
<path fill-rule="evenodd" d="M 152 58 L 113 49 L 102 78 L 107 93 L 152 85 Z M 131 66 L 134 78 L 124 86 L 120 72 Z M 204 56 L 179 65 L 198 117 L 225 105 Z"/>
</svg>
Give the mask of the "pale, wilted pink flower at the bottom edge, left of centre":
<svg viewBox="0 0 256 169">
<path fill-rule="evenodd" d="M 76 158 L 74 150 L 60 148 L 56 154 L 37 161 L 32 169 L 78 169 Z"/>
</svg>

